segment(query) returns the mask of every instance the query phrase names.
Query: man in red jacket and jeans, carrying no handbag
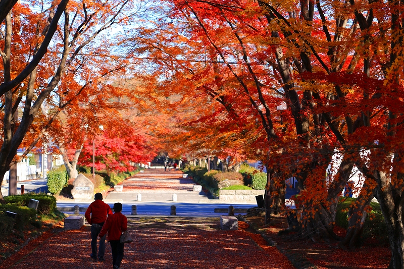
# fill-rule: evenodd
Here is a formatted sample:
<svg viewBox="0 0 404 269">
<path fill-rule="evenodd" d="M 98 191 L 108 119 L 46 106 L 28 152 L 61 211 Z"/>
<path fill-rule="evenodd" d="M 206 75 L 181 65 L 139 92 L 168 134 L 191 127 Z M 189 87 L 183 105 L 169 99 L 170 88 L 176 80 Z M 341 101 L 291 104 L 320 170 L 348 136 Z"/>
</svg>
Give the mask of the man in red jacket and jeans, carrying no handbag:
<svg viewBox="0 0 404 269">
<path fill-rule="evenodd" d="M 108 216 L 112 216 L 111 207 L 103 202 L 103 194 L 95 193 L 94 200 L 85 211 L 85 219 L 91 224 L 91 254 L 93 260 L 97 260 L 97 237 Z M 91 217 L 90 217 L 91 216 Z M 99 239 L 98 260 L 104 261 L 105 236 Z"/>
</svg>

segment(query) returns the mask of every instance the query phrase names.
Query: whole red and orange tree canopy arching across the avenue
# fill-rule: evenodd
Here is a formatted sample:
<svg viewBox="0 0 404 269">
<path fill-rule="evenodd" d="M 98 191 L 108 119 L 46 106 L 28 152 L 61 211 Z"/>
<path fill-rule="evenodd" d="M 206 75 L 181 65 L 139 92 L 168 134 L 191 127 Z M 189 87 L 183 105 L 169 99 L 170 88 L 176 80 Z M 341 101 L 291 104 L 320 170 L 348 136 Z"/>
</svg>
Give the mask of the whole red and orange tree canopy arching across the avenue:
<svg viewBox="0 0 404 269">
<path fill-rule="evenodd" d="M 389 268 L 403 267 L 401 2 L 41 5 L 0 0 L 0 178 L 18 148 L 44 146 L 74 177 L 92 140 L 97 169 L 125 170 L 159 150 L 260 160 L 267 208 L 286 212 L 285 179 L 297 179 L 308 238 L 357 247 L 375 197 Z M 341 239 L 335 210 L 353 169 L 364 182 Z"/>
</svg>

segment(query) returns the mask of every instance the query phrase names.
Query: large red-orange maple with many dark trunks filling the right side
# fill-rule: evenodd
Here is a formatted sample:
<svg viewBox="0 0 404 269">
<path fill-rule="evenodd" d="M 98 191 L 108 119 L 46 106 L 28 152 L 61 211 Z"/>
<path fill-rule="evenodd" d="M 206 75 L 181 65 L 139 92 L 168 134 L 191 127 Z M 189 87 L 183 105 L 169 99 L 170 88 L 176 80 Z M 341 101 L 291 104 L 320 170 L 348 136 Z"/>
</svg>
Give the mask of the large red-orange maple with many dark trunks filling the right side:
<svg viewBox="0 0 404 269">
<path fill-rule="evenodd" d="M 263 149 L 261 159 L 270 160 L 266 165 L 271 168 L 269 183 L 273 186 L 268 187 L 278 192 L 273 205 L 282 204 L 284 179 L 295 176 L 301 188 L 296 203 L 303 210 L 301 224 L 307 236 L 338 239 L 333 233 L 335 208 L 356 166 L 366 179 L 357 204 L 351 208 L 342 244 L 354 247 L 358 243 L 366 210 L 375 195 L 390 227 L 390 267 L 400 268 L 399 4 L 257 4 L 171 1 L 166 10 L 171 21 L 162 20 L 158 30 L 142 30 L 131 44 L 136 52 L 147 51 L 148 59 L 160 68 L 154 72 L 167 77 L 158 89 L 165 96 L 178 94 L 177 104 L 195 100 L 207 109 L 203 116 L 195 116 L 199 120 L 190 120 L 200 129 L 183 132 L 182 141 L 201 142 L 197 134 L 209 130 L 204 136 L 207 142 L 201 145 L 210 150 L 226 147 L 215 144 L 229 130 L 226 128 L 241 127 L 231 130 L 234 137 L 243 133 L 246 122 L 252 126 L 255 119 L 261 120 L 259 135 L 252 135 L 257 128 L 246 130 L 257 138 L 255 149 Z M 376 5 L 384 9 L 376 12 Z M 364 10 L 367 16 L 360 12 Z M 221 103 L 221 112 L 226 111 L 227 116 L 219 110 L 209 111 L 212 106 L 201 101 L 207 96 Z M 276 110 L 280 101 L 287 103 L 286 111 Z M 251 107 L 255 109 L 251 117 L 241 118 L 245 122 L 235 113 L 250 112 Z M 232 126 L 223 121 L 226 117 Z M 276 123 L 280 117 L 283 124 Z M 206 128 L 201 123 L 206 123 Z M 213 123 L 222 124 L 222 129 L 212 128 Z M 260 143 L 260 139 L 264 141 Z M 341 162 L 327 179 L 325 171 L 333 156 L 339 156 Z M 391 168 L 392 173 L 388 172 Z"/>
</svg>

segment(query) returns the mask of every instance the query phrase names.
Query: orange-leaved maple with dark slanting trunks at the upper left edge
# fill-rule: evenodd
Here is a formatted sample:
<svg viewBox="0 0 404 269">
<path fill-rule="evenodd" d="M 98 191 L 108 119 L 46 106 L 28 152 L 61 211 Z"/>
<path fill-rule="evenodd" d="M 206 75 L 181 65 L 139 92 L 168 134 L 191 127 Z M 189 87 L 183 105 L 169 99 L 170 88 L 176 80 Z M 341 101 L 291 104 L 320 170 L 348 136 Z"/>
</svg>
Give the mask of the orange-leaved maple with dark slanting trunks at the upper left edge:
<svg viewBox="0 0 404 269">
<path fill-rule="evenodd" d="M 42 6 L 39 13 L 32 12 L 28 5 L 16 5 L 2 28 L 2 179 L 10 165 L 19 161 L 15 158 L 19 146 L 26 147 L 27 154 L 38 141 L 44 141 L 49 126 L 67 106 L 80 110 L 83 103 L 91 105 L 92 99 L 96 99 L 94 105 L 102 104 L 97 99 L 102 99 L 103 90 L 108 88 L 102 83 L 105 77 L 124 70 L 125 63 L 117 62 L 106 47 L 113 40 L 103 38 L 103 42 L 94 42 L 94 39 L 127 20 L 122 11 L 132 8 L 128 1 L 70 1 L 68 7 L 67 1 L 62 1 L 58 8 L 54 2 L 43 5 L 49 7 Z M 64 14 L 60 28 L 55 14 Z M 58 34 L 53 37 L 52 31 Z M 51 39 L 52 46 L 45 55 Z M 26 66 L 27 61 L 31 62 Z M 100 78 L 104 80 L 98 81 Z"/>
</svg>

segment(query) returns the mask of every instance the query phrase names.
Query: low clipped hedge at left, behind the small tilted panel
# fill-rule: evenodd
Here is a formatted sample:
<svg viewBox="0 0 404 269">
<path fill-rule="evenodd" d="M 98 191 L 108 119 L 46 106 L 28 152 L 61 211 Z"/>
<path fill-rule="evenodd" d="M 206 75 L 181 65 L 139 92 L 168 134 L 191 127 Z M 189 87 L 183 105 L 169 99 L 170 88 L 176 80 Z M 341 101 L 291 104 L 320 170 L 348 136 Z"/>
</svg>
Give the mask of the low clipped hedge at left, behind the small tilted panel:
<svg viewBox="0 0 404 269">
<path fill-rule="evenodd" d="M 38 200 L 38 212 L 40 214 L 49 214 L 56 209 L 56 198 L 46 194 L 22 194 L 22 195 L 9 195 L 5 196 L 4 200 L 7 204 L 16 204 L 19 206 L 28 206 L 29 200 Z"/>
</svg>

